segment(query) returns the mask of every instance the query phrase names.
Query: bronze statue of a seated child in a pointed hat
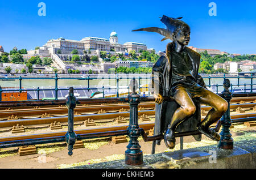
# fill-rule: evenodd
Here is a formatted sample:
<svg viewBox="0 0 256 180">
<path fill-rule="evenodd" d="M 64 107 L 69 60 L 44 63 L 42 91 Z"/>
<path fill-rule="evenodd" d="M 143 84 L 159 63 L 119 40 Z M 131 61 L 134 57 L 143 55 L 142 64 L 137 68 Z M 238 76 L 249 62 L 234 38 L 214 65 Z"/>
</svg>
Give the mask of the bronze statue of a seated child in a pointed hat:
<svg viewBox="0 0 256 180">
<path fill-rule="evenodd" d="M 163 28 L 142 28 L 134 31 L 158 32 L 170 39 L 164 53 L 152 68 L 151 93 L 156 102 L 154 135 L 164 133 L 164 143 L 170 149 L 175 147 L 174 132 L 198 130 L 213 140 L 220 135 L 212 128 L 228 109 L 228 102 L 209 91 L 198 74 L 200 54 L 187 47 L 190 41 L 190 27 L 180 20 L 163 15 Z M 172 97 L 173 102 L 163 101 Z M 200 104 L 209 105 L 207 116 L 201 121 Z M 201 140 L 201 135 L 194 135 Z M 158 142 L 160 144 L 160 142 Z"/>
</svg>

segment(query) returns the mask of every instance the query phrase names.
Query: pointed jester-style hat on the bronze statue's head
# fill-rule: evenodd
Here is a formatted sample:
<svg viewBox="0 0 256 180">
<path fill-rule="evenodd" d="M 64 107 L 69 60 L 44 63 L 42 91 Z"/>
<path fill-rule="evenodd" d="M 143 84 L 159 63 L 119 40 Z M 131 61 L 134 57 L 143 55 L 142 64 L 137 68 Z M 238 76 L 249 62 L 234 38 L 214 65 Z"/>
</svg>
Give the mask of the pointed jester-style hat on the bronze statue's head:
<svg viewBox="0 0 256 180">
<path fill-rule="evenodd" d="M 147 32 L 157 32 L 160 35 L 163 35 L 164 38 L 161 41 L 167 40 L 168 38 L 173 41 L 172 33 L 176 31 L 176 29 L 180 28 L 183 25 L 187 25 L 187 23 L 183 22 L 182 17 L 180 18 L 169 18 L 166 15 L 163 15 L 161 22 L 166 25 L 166 29 L 163 28 L 141 28 L 141 29 L 135 29 L 133 31 L 147 31 Z"/>
</svg>

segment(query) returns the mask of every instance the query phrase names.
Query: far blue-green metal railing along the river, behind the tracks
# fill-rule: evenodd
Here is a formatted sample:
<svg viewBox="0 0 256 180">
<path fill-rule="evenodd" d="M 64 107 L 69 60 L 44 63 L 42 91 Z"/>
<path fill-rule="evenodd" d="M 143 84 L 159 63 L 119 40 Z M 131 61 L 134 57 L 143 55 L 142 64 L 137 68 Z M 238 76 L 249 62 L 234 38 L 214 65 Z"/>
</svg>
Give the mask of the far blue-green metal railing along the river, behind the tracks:
<svg viewBox="0 0 256 180">
<path fill-rule="evenodd" d="M 250 76 L 226 76 L 225 74 L 223 76 L 203 76 L 203 79 L 207 79 L 205 82 L 207 83 L 207 87 L 211 88 L 211 87 L 216 87 L 216 93 L 220 92 L 220 87 L 223 87 L 222 84 L 211 84 L 211 80 L 212 79 L 226 79 L 226 78 L 229 78 L 229 79 L 237 79 L 237 83 L 236 84 L 231 84 L 231 89 L 230 91 L 231 92 L 234 92 L 235 89 L 234 87 L 242 87 L 243 88 L 243 92 L 253 92 L 253 87 L 256 86 L 256 84 L 253 83 L 253 79 L 256 78 L 256 76 L 253 76 L 253 74 L 251 74 Z M 22 80 L 55 80 L 55 88 L 46 88 L 46 89 L 42 89 L 42 88 L 36 88 L 36 89 L 24 89 L 22 88 Z M 92 87 L 90 81 L 92 80 L 102 80 L 102 79 L 105 79 L 105 80 L 115 80 L 115 84 L 116 86 L 115 87 L 97 87 L 97 88 L 94 88 Z M 55 78 L 24 78 L 22 76 L 19 76 L 19 78 L 0 78 L 0 80 L 19 80 L 19 89 L 3 89 L 0 87 L 0 101 L 2 101 L 2 92 L 16 92 L 16 91 L 19 91 L 20 93 L 21 92 L 24 92 L 24 91 L 27 91 L 27 92 L 30 92 L 30 91 L 34 91 L 36 92 L 36 100 L 40 100 L 40 92 L 41 91 L 54 91 L 55 93 L 55 100 L 58 100 L 58 91 L 67 91 L 68 88 L 59 88 L 58 87 L 58 82 L 59 80 L 87 80 L 87 87 L 86 88 L 74 88 L 74 90 L 87 90 L 87 91 L 90 91 L 90 90 L 98 90 L 98 91 L 101 91 L 102 92 L 102 97 L 104 98 L 105 97 L 105 91 L 106 90 L 110 90 L 110 89 L 114 89 L 116 91 L 116 97 L 120 97 L 119 96 L 119 90 L 120 89 L 129 89 L 129 87 L 120 87 L 119 86 L 119 83 L 120 83 L 120 80 L 121 79 L 134 79 L 134 77 L 132 76 L 126 76 L 125 78 L 123 77 L 119 77 L 118 74 L 115 75 L 114 77 L 111 77 L 111 76 L 99 76 L 98 78 L 90 78 L 89 76 L 86 77 L 86 78 L 59 78 L 58 75 L 56 74 L 55 75 Z M 138 79 L 138 85 L 139 85 L 139 89 L 147 89 L 148 93 L 147 95 L 150 96 L 150 91 L 148 90 L 147 87 L 142 87 L 142 80 L 143 79 L 147 79 L 147 80 L 150 80 L 150 77 L 146 76 L 146 77 L 143 77 L 143 76 L 137 76 L 135 77 L 135 79 Z M 243 84 L 240 84 L 241 82 L 241 79 L 250 79 L 250 84 L 246 84 L 246 83 L 243 83 Z M 149 83 L 149 82 L 148 82 Z M 249 87 L 249 88 L 248 88 Z M 247 88 L 247 89 L 246 89 Z M 255 91 L 256 91 L 256 88 L 255 88 Z"/>
</svg>

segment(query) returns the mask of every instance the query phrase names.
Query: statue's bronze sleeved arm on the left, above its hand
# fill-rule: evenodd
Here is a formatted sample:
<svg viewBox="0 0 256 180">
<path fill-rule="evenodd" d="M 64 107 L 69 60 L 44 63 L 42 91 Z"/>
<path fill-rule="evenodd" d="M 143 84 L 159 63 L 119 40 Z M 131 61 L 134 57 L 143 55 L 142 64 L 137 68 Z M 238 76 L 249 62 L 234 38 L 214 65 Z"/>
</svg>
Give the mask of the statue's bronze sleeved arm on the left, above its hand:
<svg viewBox="0 0 256 180">
<path fill-rule="evenodd" d="M 162 55 L 152 67 L 150 92 L 152 94 L 163 95 L 163 72 L 166 66 L 166 57 Z"/>
</svg>

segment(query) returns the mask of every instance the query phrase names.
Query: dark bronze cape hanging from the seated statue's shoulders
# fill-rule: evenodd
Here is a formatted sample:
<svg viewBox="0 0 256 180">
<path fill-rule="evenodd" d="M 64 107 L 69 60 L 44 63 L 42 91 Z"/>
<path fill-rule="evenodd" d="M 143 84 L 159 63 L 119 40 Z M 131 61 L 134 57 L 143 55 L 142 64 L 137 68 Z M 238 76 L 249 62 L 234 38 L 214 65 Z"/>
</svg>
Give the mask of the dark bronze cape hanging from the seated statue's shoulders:
<svg viewBox="0 0 256 180">
<path fill-rule="evenodd" d="M 152 75 L 154 74 L 154 72 L 157 72 L 158 74 L 154 77 L 154 79 L 152 79 L 150 85 L 151 93 L 154 93 L 154 87 L 158 87 L 159 93 L 162 96 L 170 96 L 170 85 L 172 79 L 171 50 L 173 45 L 173 42 L 167 45 L 166 53 L 158 59 L 158 61 L 152 68 Z M 185 47 L 184 50 L 188 53 L 189 58 L 191 58 L 192 61 L 192 75 L 196 78 L 197 83 L 205 86 L 204 82 L 202 82 L 203 79 L 201 78 L 201 76 L 198 75 L 200 54 L 187 47 Z M 200 104 L 196 102 L 194 102 L 194 104 L 196 106 L 195 114 L 189 117 L 186 121 L 181 122 L 177 126 L 175 132 L 187 132 L 196 130 L 196 126 L 201 121 L 201 107 Z M 172 115 L 177 108 L 179 108 L 179 105 L 175 101 L 163 101 L 162 104 L 155 105 L 154 135 L 162 135 L 164 133 L 167 126 L 171 122 Z M 198 141 L 201 140 L 200 135 L 194 135 L 194 138 Z M 158 141 L 157 144 L 160 144 L 160 141 Z"/>
</svg>

